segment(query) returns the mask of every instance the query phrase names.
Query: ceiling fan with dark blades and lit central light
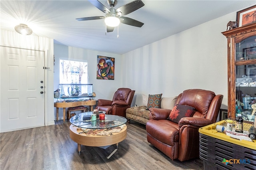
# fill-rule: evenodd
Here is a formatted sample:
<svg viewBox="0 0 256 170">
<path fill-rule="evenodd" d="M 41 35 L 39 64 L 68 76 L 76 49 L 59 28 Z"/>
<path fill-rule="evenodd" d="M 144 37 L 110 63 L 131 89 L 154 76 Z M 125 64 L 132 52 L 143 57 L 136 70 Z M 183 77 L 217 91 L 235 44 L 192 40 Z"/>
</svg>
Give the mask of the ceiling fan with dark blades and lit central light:
<svg viewBox="0 0 256 170">
<path fill-rule="evenodd" d="M 125 17 L 125 15 L 130 14 L 144 6 L 145 4 L 141 0 L 134 0 L 125 4 L 118 9 L 113 8 L 117 4 L 117 0 L 107 0 L 111 8 L 107 8 L 98 0 L 88 0 L 96 8 L 106 13 L 106 16 L 92 16 L 84 18 L 76 18 L 78 21 L 87 21 L 87 20 L 100 20 L 105 19 L 106 30 L 107 32 L 113 32 L 114 28 L 119 25 L 119 23 L 127 24 L 135 27 L 142 27 L 144 23 L 134 20 L 132 18 Z"/>
</svg>

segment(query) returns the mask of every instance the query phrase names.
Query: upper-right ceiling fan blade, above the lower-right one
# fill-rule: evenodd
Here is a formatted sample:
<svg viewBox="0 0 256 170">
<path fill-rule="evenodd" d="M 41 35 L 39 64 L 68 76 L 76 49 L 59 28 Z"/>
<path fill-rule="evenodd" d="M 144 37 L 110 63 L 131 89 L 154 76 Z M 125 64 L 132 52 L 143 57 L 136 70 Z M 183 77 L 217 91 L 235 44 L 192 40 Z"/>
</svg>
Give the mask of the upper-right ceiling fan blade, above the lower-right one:
<svg viewBox="0 0 256 170">
<path fill-rule="evenodd" d="M 135 0 L 135 1 L 132 1 L 128 4 L 125 4 L 121 7 L 119 7 L 116 10 L 116 14 L 118 14 L 120 16 L 125 16 L 127 14 L 130 14 L 131 12 L 138 10 L 139 8 L 141 8 L 144 5 L 145 4 L 141 0 Z M 118 13 L 118 12 L 120 12 L 120 13 Z"/>
</svg>

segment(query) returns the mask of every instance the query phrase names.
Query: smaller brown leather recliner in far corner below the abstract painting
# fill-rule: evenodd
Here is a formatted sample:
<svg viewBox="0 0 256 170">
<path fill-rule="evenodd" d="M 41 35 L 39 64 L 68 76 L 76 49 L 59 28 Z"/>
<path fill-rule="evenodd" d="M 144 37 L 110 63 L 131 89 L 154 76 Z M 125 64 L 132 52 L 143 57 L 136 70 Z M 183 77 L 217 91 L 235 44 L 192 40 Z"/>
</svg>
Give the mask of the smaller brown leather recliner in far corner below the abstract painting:
<svg viewBox="0 0 256 170">
<path fill-rule="evenodd" d="M 126 109 L 131 107 L 135 90 L 120 88 L 114 94 L 113 100 L 98 99 L 99 111 L 105 111 L 108 115 L 119 115 L 126 118 Z"/>
</svg>

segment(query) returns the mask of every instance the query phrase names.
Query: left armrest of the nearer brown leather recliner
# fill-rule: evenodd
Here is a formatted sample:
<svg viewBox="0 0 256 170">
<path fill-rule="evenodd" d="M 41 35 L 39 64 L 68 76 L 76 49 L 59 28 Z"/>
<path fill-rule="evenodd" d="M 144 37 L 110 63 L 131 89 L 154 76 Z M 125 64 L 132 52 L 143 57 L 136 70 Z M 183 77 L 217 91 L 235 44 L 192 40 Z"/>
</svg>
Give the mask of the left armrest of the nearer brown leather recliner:
<svg viewBox="0 0 256 170">
<path fill-rule="evenodd" d="M 149 120 L 151 119 L 163 120 L 168 118 L 172 110 L 151 107 L 149 108 L 149 111 L 150 111 Z"/>
</svg>

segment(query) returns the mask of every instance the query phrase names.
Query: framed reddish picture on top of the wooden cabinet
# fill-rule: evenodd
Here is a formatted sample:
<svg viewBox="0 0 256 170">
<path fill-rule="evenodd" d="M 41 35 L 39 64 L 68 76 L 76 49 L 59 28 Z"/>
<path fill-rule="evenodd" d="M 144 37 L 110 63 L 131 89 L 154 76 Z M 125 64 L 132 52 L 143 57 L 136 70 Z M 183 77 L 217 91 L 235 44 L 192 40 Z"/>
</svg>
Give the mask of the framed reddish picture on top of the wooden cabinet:
<svg viewBox="0 0 256 170">
<path fill-rule="evenodd" d="M 236 22 L 239 27 L 256 22 L 256 5 L 236 12 Z"/>
</svg>

